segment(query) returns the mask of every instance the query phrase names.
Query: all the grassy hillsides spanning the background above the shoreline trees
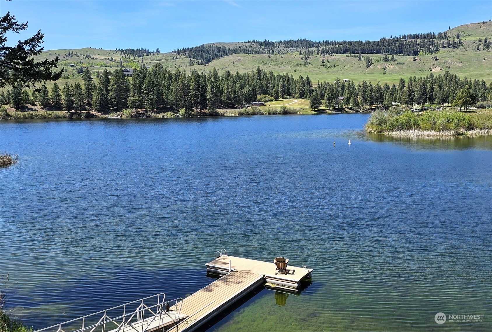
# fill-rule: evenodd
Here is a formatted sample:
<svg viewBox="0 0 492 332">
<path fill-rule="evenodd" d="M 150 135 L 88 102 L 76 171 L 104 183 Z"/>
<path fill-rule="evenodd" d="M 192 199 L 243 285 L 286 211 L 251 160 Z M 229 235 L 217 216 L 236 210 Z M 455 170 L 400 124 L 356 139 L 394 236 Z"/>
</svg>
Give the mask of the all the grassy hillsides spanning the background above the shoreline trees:
<svg viewBox="0 0 492 332">
<path fill-rule="evenodd" d="M 307 64 L 304 61 L 304 55 L 300 56 L 295 50 L 282 49 L 281 53 L 285 54 L 234 54 L 213 60 L 207 65 L 197 65 L 197 61 L 191 60 L 184 55 L 174 53 L 159 53 L 146 57 L 130 59 L 123 58 L 118 51 L 101 50 L 93 48 L 83 48 L 77 50 L 50 50 L 43 52 L 38 60 L 53 59 L 57 55 L 60 56 L 60 66 L 65 68 L 65 78 L 61 79 L 58 84 L 63 86 L 65 82 L 73 84 L 80 81 L 80 74 L 77 74 L 77 69 L 89 67 L 93 72 L 103 70 L 106 66 L 109 70 L 120 66 L 120 60 L 123 61 L 124 67 L 134 67 L 142 63 L 147 66 L 152 66 L 156 62 L 161 62 L 164 67 L 174 70 L 180 68 L 182 70 L 191 71 L 209 71 L 216 67 L 219 73 L 226 70 L 231 72 L 239 71 L 244 73 L 255 70 L 256 66 L 260 66 L 266 70 L 272 70 L 275 74 L 289 73 L 294 77 L 299 75 L 309 76 L 312 82 L 318 80 L 333 82 L 337 77 L 340 79 L 349 79 L 356 83 L 366 80 L 375 82 L 398 83 L 400 77 L 407 79 L 409 76 L 426 76 L 433 72 L 439 74 L 449 70 L 451 73 L 456 73 L 460 77 L 468 77 L 473 79 L 483 79 L 487 83 L 492 82 L 492 47 L 489 49 L 481 48 L 477 50 L 479 44 L 478 39 L 483 40 L 485 37 L 492 40 L 492 22 L 487 23 L 472 23 L 453 28 L 448 31 L 451 37 L 456 37 L 460 33 L 463 45 L 458 49 L 441 49 L 438 54 L 438 60 L 434 60 L 434 55 L 418 56 L 417 60 L 413 57 L 395 56 L 396 61 L 382 62 L 379 61 L 382 56 L 373 54 L 369 55 L 373 64 L 367 68 L 365 61 L 357 60 L 357 58 L 347 57 L 346 55 L 326 56 L 326 65 L 322 65 L 323 57 L 314 55 L 308 58 Z M 218 46 L 226 46 L 231 48 L 239 47 L 240 45 L 250 47 L 251 44 L 243 42 L 234 43 L 214 43 Z M 68 54 L 72 56 L 68 56 Z M 367 55 L 365 55 L 367 56 Z M 143 60 L 143 62 L 142 62 Z M 193 63 L 195 62 L 195 63 Z M 75 66 L 70 66 L 73 64 Z M 53 83 L 50 82 L 48 88 Z"/>
</svg>

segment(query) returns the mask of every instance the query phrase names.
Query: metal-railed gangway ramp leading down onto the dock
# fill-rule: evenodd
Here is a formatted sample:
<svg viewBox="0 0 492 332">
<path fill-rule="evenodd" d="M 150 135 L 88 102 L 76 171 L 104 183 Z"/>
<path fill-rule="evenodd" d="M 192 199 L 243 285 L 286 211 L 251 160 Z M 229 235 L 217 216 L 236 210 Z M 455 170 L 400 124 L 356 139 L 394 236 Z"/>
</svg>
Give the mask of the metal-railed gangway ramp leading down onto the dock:
<svg viewBox="0 0 492 332">
<path fill-rule="evenodd" d="M 159 293 L 35 332 L 146 332 L 179 322 L 183 299 Z M 171 310 L 172 309 L 172 310 Z"/>
</svg>

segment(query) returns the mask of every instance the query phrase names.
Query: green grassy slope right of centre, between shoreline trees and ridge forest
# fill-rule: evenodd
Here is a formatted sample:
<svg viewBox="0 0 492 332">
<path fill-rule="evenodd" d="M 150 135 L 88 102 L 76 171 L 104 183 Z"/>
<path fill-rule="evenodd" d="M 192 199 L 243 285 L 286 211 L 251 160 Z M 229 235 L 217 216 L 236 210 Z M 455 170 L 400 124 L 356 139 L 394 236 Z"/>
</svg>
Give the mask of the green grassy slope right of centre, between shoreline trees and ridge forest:
<svg viewBox="0 0 492 332">
<path fill-rule="evenodd" d="M 366 68 L 364 61 L 344 55 L 327 56 L 329 60 L 326 66 L 321 65 L 322 57 L 310 57 L 309 64 L 304 65 L 304 57 L 296 54 L 289 55 L 247 55 L 236 54 L 212 61 L 207 66 L 196 66 L 197 70 L 206 70 L 207 67 L 216 67 L 219 72 L 230 70 L 240 73 L 253 70 L 259 65 L 263 69 L 272 70 L 276 74 L 289 73 L 294 77 L 306 75 L 313 82 L 333 82 L 337 77 L 349 79 L 354 82 L 362 80 L 372 82 L 398 83 L 400 77 L 407 79 L 409 76 L 426 76 L 433 72 L 438 74 L 449 70 L 460 77 L 472 77 L 492 81 L 492 52 L 449 52 L 438 54 L 439 60 L 433 60 L 433 56 L 420 56 L 416 61 L 413 57 L 396 56 L 393 62 L 375 62 L 380 55 L 369 55 L 374 64 Z M 485 58 L 485 60 L 484 60 Z"/>
</svg>

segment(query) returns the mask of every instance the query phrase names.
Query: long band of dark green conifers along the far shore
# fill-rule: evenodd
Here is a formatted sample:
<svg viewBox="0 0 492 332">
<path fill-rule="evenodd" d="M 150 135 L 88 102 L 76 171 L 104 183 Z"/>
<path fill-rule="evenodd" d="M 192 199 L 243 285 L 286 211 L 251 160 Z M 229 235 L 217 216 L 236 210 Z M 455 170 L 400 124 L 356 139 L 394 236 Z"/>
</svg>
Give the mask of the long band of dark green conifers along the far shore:
<svg viewBox="0 0 492 332">
<path fill-rule="evenodd" d="M 343 97 L 343 98 L 339 98 Z M 214 68 L 207 73 L 192 70 L 189 74 L 176 68 L 171 71 L 156 63 L 152 68 L 141 66 L 125 77 L 123 69 L 92 73 L 83 72 L 82 84 L 54 84 L 49 91 L 43 84 L 39 91 L 25 89 L 21 84 L 0 91 L 0 104 L 12 110 L 35 109 L 64 111 L 70 117 L 85 114 L 120 114 L 152 116 L 214 115 L 220 109 L 241 109 L 254 101 L 279 98 L 306 98 L 312 110 L 344 107 L 358 110 L 372 106 L 400 104 L 445 105 L 467 108 L 472 105 L 487 107 L 492 104 L 492 83 L 484 80 L 460 78 L 446 71 L 443 74 L 400 79 L 398 85 L 362 81 L 313 83 L 308 76 L 275 75 L 257 67 L 248 73 L 219 75 Z M 478 104 L 477 104 L 478 103 Z M 12 112 L 2 108 L 1 118 Z"/>
</svg>

